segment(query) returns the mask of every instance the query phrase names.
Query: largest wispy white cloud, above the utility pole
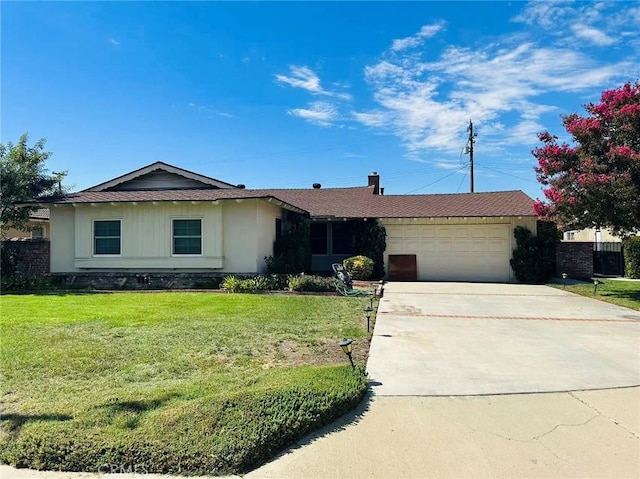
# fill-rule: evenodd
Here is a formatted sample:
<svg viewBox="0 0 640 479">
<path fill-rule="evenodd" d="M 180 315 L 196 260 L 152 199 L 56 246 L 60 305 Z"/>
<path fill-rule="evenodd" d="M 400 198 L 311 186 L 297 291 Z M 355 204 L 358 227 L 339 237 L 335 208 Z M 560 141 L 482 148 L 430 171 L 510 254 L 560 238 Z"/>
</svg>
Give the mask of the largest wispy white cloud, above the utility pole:
<svg viewBox="0 0 640 479">
<path fill-rule="evenodd" d="M 530 21 L 545 19 L 550 12 L 569 15 L 566 5 L 536 3 L 530 7 Z M 594 18 L 600 15 L 595 7 L 590 12 Z M 585 27 L 578 34 L 589 36 L 591 42 L 610 41 L 601 33 Z M 637 73 L 631 59 L 599 63 L 588 50 L 541 46 L 534 40 L 523 42 L 522 36 L 501 38 L 481 48 L 451 45 L 434 61 L 425 61 L 403 51 L 416 38 L 394 42 L 377 63 L 365 68 L 378 107 L 352 114 L 367 127 L 394 133 L 410 155 L 429 149 L 459 152 L 470 119 L 476 125 L 501 125 L 508 117 L 508 124 L 516 125 L 483 132 L 490 137 L 485 139 L 487 147 L 531 144 L 544 129 L 542 115 L 556 108 L 540 101 L 544 95 L 600 89 L 627 71 Z"/>
</svg>

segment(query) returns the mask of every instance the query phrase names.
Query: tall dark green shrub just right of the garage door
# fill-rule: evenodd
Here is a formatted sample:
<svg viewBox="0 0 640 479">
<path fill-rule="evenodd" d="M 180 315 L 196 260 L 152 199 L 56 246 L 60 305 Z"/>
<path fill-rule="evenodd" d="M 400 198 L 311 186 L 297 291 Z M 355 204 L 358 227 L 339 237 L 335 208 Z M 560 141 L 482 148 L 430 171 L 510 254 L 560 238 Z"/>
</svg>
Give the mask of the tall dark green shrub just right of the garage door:
<svg viewBox="0 0 640 479">
<path fill-rule="evenodd" d="M 509 260 L 516 279 L 521 283 L 545 283 L 555 273 L 556 244 L 560 233 L 555 223 L 538 221 L 538 236 L 523 227 L 513 230 L 516 249 Z"/>
</svg>

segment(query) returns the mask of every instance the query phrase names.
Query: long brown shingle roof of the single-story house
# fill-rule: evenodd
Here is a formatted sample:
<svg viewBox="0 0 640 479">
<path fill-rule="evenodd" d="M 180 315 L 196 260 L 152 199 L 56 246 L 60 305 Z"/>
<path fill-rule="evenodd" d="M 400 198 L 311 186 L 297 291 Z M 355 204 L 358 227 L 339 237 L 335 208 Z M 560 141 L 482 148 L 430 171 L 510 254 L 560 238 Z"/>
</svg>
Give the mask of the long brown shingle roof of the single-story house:
<svg viewBox="0 0 640 479">
<path fill-rule="evenodd" d="M 304 190 L 154 190 L 81 191 L 40 203 L 215 201 L 260 198 L 278 200 L 317 218 L 429 218 L 531 216 L 533 200 L 522 191 L 436 195 L 374 195 L 372 187 Z"/>
</svg>

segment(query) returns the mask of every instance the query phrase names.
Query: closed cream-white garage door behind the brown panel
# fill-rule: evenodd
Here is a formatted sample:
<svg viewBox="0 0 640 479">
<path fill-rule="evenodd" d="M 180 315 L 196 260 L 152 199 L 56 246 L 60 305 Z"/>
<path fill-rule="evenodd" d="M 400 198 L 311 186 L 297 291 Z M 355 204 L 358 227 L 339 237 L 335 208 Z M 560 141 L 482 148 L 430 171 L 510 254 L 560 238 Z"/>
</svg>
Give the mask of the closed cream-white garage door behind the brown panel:
<svg viewBox="0 0 640 479">
<path fill-rule="evenodd" d="M 407 224 L 385 228 L 387 253 L 415 254 L 420 281 L 509 281 L 508 224 Z"/>
</svg>

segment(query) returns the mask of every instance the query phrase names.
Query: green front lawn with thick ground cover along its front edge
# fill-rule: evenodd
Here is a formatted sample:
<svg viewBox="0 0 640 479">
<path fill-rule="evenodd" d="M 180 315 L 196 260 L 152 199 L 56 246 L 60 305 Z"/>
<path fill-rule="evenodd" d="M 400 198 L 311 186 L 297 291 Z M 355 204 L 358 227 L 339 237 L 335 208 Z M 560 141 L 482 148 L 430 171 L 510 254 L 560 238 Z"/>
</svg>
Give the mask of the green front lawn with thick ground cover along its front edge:
<svg viewBox="0 0 640 479">
<path fill-rule="evenodd" d="M 242 473 L 364 397 L 365 301 L 336 296 L 4 295 L 0 460 L 98 472 Z"/>
</svg>

